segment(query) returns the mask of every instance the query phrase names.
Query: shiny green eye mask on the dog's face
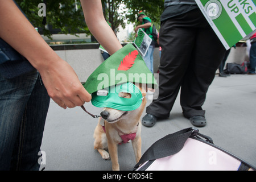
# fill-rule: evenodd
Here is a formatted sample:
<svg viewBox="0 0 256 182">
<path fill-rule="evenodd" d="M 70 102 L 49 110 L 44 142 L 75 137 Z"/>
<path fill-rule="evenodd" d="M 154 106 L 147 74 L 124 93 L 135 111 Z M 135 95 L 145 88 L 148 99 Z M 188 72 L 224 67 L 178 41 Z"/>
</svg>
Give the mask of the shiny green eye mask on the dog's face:
<svg viewBox="0 0 256 182">
<path fill-rule="evenodd" d="M 120 97 L 123 93 L 129 93 L 130 98 Z M 110 107 L 117 110 L 135 110 L 142 103 L 142 93 L 137 86 L 131 82 L 110 86 L 92 93 L 92 105 L 96 107 Z"/>
</svg>

